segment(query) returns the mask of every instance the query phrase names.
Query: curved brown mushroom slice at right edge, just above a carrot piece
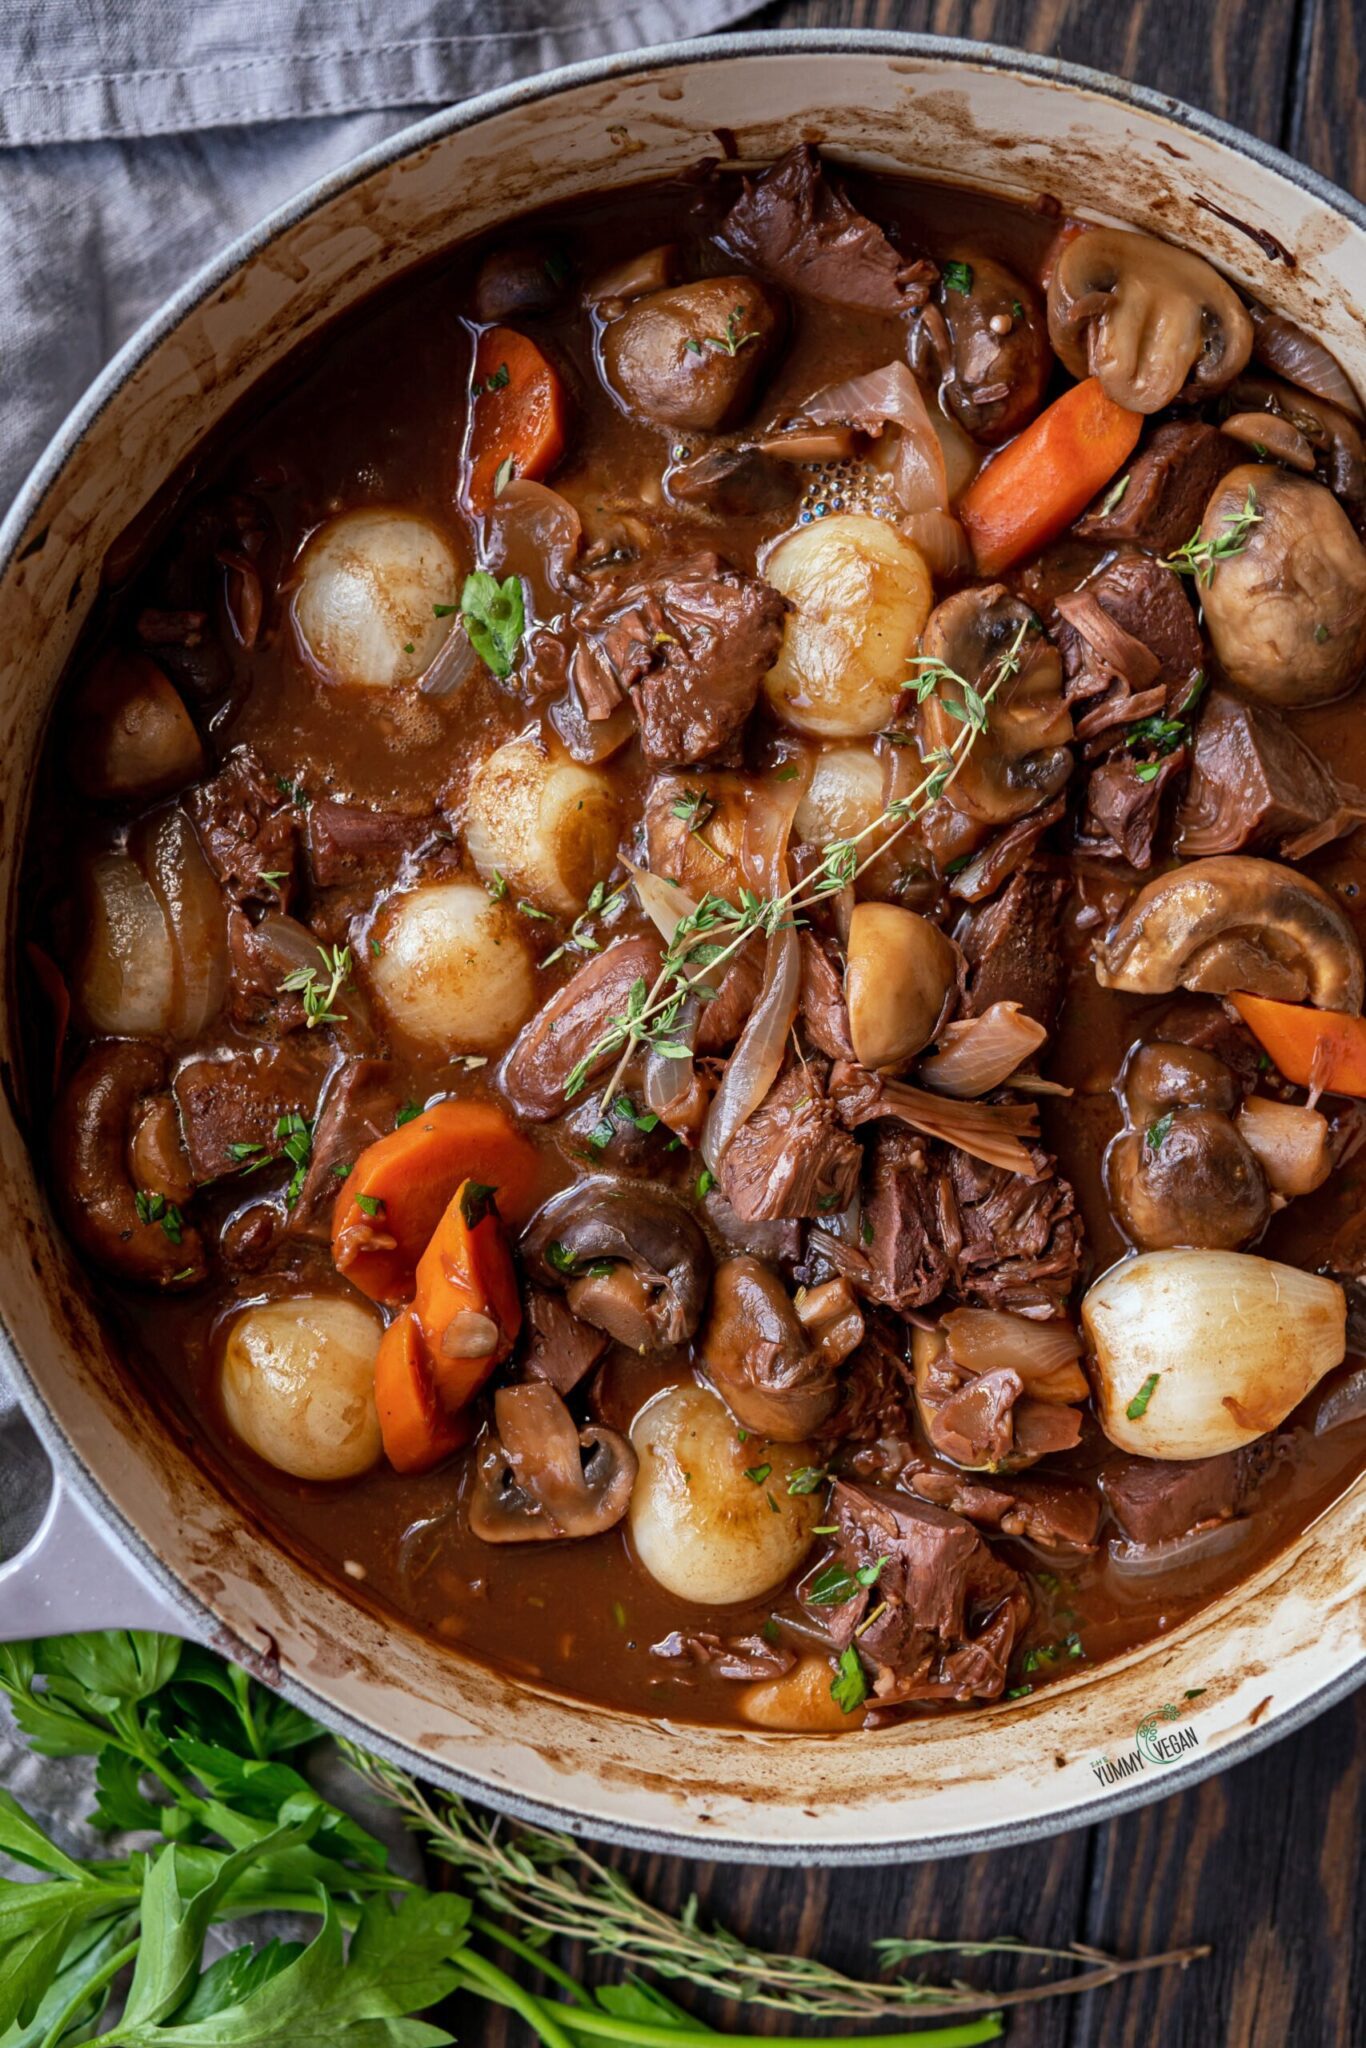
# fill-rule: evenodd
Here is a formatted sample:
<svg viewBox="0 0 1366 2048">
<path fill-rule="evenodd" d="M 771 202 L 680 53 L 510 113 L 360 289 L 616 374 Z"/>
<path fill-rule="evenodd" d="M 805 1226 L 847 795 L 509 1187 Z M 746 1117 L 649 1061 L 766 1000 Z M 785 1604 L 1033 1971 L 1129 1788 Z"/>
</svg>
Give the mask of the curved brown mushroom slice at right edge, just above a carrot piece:
<svg viewBox="0 0 1366 2048">
<path fill-rule="evenodd" d="M 1096 946 L 1102 989 L 1362 1008 L 1362 948 L 1331 895 L 1276 860 L 1214 854 L 1159 874 Z"/>
</svg>

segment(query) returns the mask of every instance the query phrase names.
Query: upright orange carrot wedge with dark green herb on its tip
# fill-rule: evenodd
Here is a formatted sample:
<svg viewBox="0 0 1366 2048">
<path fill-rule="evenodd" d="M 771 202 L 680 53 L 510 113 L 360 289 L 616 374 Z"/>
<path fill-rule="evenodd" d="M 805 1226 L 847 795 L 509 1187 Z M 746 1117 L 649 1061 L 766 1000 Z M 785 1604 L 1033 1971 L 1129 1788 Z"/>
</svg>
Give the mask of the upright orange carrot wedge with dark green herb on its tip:
<svg viewBox="0 0 1366 2048">
<path fill-rule="evenodd" d="M 461 1182 L 418 1260 L 412 1313 L 449 1415 L 483 1386 L 522 1327 L 522 1298 L 494 1196 L 483 1182 Z M 463 1350 L 485 1337 L 487 1350 Z"/>
</svg>

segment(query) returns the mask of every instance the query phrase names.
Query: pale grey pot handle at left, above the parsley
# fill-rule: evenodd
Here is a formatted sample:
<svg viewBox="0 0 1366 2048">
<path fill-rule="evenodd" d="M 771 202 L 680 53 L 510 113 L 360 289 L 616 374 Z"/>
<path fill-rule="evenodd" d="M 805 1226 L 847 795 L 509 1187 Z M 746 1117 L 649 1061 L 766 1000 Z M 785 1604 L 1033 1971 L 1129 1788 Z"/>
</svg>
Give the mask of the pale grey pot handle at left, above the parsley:
<svg viewBox="0 0 1366 2048">
<path fill-rule="evenodd" d="M 0 1563 L 0 1642 L 84 1628 L 193 1634 L 166 1593 L 53 1473 L 35 1534 Z"/>
</svg>

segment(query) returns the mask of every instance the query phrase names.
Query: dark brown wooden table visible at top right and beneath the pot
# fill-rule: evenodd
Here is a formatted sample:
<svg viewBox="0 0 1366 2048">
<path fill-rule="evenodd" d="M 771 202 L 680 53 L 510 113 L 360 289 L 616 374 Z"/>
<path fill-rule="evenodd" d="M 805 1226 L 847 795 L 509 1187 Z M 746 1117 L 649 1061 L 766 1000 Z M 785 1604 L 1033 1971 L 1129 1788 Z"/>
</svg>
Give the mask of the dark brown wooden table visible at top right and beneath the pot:
<svg viewBox="0 0 1366 2048">
<path fill-rule="evenodd" d="M 1092 63 L 1204 106 L 1366 197 L 1364 0 L 776 0 L 756 25 L 917 29 Z M 1360 1692 L 1194 1792 L 1032 1847 L 881 1870 L 621 1862 L 659 1903 L 696 1890 L 745 1937 L 815 1948 L 860 1972 L 877 1933 L 1016 1933 L 1128 1956 L 1212 1946 L 1184 1972 L 1024 2007 L 1010 2048 L 1362 2048 L 1364 1831 Z M 760 2015 L 743 2023 L 778 2032 Z M 459 2032 L 481 2048 L 522 2042 L 473 2011 Z"/>
</svg>

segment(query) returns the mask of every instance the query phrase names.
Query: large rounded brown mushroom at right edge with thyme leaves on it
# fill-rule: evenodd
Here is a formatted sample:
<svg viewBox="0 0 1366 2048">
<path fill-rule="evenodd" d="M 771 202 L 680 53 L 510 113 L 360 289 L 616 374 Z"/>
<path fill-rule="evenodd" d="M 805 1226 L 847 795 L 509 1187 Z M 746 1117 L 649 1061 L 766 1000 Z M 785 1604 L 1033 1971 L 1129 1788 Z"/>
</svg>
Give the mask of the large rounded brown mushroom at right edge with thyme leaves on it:
<svg viewBox="0 0 1366 2048">
<path fill-rule="evenodd" d="M 1366 547 L 1311 477 L 1241 463 L 1200 522 L 1214 557 L 1200 596 L 1229 682 L 1268 705 L 1327 705 L 1366 666 Z"/>
</svg>

